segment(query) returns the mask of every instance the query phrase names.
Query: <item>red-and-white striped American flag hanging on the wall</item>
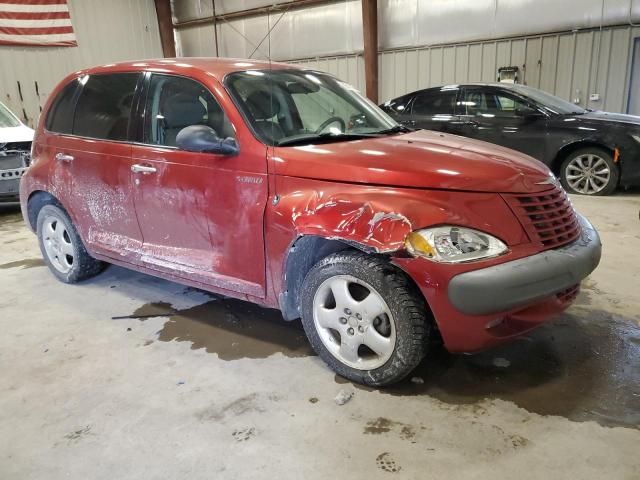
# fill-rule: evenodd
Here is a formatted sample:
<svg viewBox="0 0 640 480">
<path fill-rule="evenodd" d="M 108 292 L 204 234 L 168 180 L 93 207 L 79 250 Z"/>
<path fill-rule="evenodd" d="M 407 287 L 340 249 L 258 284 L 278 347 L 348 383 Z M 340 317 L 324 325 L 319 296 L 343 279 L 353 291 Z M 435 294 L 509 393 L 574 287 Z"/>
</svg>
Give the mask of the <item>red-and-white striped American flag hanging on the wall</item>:
<svg viewBox="0 0 640 480">
<path fill-rule="evenodd" d="M 0 0 L 0 45 L 78 45 L 67 0 Z"/>
</svg>

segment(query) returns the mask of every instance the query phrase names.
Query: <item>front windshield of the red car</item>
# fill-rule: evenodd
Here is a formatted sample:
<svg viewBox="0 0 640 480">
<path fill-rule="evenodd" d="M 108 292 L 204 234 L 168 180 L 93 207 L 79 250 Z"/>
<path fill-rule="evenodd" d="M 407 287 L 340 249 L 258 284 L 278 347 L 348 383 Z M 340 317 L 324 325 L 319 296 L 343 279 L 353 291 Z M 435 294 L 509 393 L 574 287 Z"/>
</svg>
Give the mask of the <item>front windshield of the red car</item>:
<svg viewBox="0 0 640 480">
<path fill-rule="evenodd" d="M 305 70 L 232 73 L 225 85 L 268 145 L 342 141 L 400 130 L 352 86 Z"/>
</svg>

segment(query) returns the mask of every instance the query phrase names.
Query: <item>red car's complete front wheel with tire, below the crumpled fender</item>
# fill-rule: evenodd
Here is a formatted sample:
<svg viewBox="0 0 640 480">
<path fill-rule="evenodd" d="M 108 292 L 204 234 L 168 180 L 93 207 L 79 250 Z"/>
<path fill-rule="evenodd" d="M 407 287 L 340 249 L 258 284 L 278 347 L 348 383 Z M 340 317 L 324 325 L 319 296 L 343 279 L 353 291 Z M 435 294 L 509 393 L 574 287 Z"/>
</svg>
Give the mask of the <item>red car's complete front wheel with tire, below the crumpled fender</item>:
<svg viewBox="0 0 640 480">
<path fill-rule="evenodd" d="M 349 380 L 390 385 L 426 354 L 431 323 L 425 300 L 402 271 L 380 257 L 355 251 L 329 255 L 305 277 L 300 299 L 313 349 Z"/>
</svg>

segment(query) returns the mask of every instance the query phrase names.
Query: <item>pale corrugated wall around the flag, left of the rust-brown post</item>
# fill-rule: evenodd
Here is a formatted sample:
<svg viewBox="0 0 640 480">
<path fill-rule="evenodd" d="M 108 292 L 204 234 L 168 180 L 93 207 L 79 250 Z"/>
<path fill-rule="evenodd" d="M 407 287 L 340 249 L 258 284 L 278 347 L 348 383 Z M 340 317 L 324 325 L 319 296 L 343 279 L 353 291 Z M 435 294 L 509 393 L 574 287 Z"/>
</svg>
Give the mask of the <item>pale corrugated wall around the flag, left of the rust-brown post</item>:
<svg viewBox="0 0 640 480">
<path fill-rule="evenodd" d="M 153 0 L 69 0 L 69 10 L 78 47 L 0 46 L 2 102 L 18 116 L 26 115 L 31 126 L 49 92 L 68 73 L 115 61 L 162 57 Z"/>
</svg>

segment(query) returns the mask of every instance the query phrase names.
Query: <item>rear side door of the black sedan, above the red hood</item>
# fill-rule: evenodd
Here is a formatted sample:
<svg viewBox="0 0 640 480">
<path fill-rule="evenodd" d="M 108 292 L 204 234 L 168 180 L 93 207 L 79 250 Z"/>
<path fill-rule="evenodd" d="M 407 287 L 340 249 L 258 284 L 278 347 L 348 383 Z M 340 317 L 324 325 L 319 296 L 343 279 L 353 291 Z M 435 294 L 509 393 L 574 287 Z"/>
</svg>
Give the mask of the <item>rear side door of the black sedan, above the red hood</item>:
<svg viewBox="0 0 640 480">
<path fill-rule="evenodd" d="M 442 87 L 422 90 L 416 93 L 408 105 L 411 110 L 402 123 L 413 128 L 438 130 L 441 132 L 458 133 L 455 114 L 459 88 Z"/>
</svg>

